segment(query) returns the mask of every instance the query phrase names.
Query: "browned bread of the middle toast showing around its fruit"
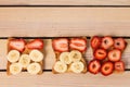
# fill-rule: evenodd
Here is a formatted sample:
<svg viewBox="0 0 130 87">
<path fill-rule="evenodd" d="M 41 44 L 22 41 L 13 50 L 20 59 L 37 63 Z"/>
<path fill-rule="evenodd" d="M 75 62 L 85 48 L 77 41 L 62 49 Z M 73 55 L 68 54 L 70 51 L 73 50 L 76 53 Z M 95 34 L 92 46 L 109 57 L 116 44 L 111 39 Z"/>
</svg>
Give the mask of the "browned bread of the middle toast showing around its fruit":
<svg viewBox="0 0 130 87">
<path fill-rule="evenodd" d="M 53 49 L 54 49 L 54 52 L 55 52 L 55 63 L 56 62 L 58 62 L 58 61 L 61 61 L 61 54 L 62 53 L 64 53 L 64 52 L 66 52 L 66 51 L 58 51 L 58 50 L 55 50 L 55 46 L 53 46 L 53 45 L 55 45 L 55 44 L 53 44 L 54 42 L 54 40 L 57 40 L 57 39 L 67 39 L 68 41 L 68 45 L 66 45 L 66 46 L 68 46 L 67 48 L 68 48 L 68 53 L 70 53 L 70 51 L 79 51 L 78 49 L 76 49 L 76 48 L 70 48 L 70 40 L 72 39 L 77 39 L 77 38 L 56 38 L 56 39 L 53 39 L 52 40 L 52 47 L 53 47 Z M 87 38 L 86 37 L 80 37 L 80 38 L 78 38 L 78 39 L 83 39 L 83 40 L 86 40 L 86 49 L 87 49 Z M 81 51 L 80 50 L 80 54 L 81 54 L 81 59 L 79 60 L 79 62 L 81 62 L 82 64 L 83 64 L 83 70 L 80 72 L 80 73 L 82 73 L 82 74 L 84 74 L 84 73 L 87 73 L 87 61 L 86 61 L 86 59 L 84 59 L 84 53 L 86 53 L 86 49 L 83 50 L 83 51 Z M 54 74 L 60 74 L 61 72 L 57 72 L 57 71 L 55 71 L 54 70 L 54 66 L 55 66 L 55 63 L 54 63 L 54 65 L 53 65 L 53 67 L 52 67 L 52 73 L 54 73 Z M 72 62 L 73 63 L 73 62 Z M 72 63 L 69 63 L 69 64 L 66 64 L 67 65 L 67 70 L 64 72 L 64 73 L 69 73 L 69 72 L 73 72 L 72 71 Z M 63 73 L 63 72 L 62 72 Z M 75 72 L 73 72 L 73 73 L 75 73 Z"/>
</svg>

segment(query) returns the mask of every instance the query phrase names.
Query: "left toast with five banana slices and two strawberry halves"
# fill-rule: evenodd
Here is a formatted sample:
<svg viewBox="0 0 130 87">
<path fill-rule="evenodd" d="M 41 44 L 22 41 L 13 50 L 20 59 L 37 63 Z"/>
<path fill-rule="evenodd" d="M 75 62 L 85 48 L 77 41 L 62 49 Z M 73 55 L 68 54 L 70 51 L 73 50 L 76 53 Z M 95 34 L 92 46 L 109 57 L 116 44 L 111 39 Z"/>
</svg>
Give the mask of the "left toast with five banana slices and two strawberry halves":
<svg viewBox="0 0 130 87">
<path fill-rule="evenodd" d="M 6 74 L 16 75 L 22 71 L 42 74 L 43 47 L 42 39 L 9 38 Z"/>
</svg>

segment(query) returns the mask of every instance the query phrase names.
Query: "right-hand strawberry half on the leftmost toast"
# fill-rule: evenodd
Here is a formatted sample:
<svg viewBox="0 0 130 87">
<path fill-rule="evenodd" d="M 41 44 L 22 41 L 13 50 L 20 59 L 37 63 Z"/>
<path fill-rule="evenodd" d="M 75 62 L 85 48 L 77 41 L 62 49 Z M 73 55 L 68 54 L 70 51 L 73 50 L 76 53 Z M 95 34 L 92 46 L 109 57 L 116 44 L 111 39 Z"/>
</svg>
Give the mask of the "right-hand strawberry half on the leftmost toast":
<svg viewBox="0 0 130 87">
<path fill-rule="evenodd" d="M 42 39 L 34 39 L 29 41 L 26 46 L 28 49 L 43 49 L 43 40 Z"/>
</svg>

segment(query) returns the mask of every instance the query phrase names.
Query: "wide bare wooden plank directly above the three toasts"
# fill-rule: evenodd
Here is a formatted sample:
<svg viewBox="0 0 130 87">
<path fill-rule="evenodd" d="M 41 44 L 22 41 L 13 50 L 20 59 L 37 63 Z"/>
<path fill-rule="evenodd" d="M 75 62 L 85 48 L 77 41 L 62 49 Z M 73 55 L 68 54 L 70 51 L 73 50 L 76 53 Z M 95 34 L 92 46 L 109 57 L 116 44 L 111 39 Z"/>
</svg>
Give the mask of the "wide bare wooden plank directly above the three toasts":
<svg viewBox="0 0 130 87">
<path fill-rule="evenodd" d="M 0 8 L 0 37 L 130 36 L 130 8 Z"/>
</svg>

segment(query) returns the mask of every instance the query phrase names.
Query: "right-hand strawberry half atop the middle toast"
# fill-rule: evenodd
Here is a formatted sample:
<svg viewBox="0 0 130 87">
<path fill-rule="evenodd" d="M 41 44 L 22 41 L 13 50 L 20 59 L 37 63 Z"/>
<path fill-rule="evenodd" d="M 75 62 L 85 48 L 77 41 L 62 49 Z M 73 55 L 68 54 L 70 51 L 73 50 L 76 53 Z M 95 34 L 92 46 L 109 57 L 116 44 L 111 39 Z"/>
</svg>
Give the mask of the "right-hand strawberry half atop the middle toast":
<svg viewBox="0 0 130 87">
<path fill-rule="evenodd" d="M 84 38 L 72 38 L 69 41 L 69 48 L 72 50 L 86 51 L 87 50 L 87 39 Z"/>
</svg>

